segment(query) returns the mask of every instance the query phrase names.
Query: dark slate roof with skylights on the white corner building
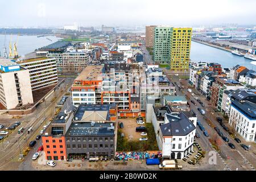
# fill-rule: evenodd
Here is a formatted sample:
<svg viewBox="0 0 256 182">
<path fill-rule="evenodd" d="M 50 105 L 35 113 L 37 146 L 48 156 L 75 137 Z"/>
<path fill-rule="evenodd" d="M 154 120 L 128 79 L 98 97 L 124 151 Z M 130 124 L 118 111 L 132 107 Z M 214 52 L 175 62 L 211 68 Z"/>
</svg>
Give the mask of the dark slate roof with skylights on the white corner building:
<svg viewBox="0 0 256 182">
<path fill-rule="evenodd" d="M 178 117 L 166 113 L 166 117 L 169 123 L 160 126 L 163 136 L 185 136 L 196 129 L 184 113 Z"/>
</svg>

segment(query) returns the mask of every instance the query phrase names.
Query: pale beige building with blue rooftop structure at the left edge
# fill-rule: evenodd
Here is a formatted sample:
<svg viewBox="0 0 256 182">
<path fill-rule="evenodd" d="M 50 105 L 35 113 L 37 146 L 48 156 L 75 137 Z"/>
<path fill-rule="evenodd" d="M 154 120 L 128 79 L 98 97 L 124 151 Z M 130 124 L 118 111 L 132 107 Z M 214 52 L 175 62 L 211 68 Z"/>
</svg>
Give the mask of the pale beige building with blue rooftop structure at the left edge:
<svg viewBox="0 0 256 182">
<path fill-rule="evenodd" d="M 0 102 L 6 109 L 34 102 L 30 73 L 15 60 L 0 59 Z"/>
</svg>

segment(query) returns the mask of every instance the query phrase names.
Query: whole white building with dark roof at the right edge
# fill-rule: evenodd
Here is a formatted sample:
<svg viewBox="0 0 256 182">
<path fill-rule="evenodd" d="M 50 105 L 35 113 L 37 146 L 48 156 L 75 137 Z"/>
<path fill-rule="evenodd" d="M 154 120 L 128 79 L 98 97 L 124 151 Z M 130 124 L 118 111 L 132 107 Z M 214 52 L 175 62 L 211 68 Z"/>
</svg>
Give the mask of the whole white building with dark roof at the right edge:
<svg viewBox="0 0 256 182">
<path fill-rule="evenodd" d="M 247 142 L 256 142 L 256 104 L 232 101 L 229 125 Z"/>
</svg>

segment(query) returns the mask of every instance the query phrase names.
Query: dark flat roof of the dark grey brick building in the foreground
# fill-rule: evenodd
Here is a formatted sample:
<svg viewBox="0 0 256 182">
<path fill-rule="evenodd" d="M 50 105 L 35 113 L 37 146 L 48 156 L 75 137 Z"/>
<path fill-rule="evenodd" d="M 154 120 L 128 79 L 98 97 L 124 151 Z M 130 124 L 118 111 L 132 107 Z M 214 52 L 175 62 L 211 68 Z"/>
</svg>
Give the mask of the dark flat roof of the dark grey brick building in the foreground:
<svg viewBox="0 0 256 182">
<path fill-rule="evenodd" d="M 114 136 L 114 123 L 71 123 L 65 136 Z"/>
</svg>

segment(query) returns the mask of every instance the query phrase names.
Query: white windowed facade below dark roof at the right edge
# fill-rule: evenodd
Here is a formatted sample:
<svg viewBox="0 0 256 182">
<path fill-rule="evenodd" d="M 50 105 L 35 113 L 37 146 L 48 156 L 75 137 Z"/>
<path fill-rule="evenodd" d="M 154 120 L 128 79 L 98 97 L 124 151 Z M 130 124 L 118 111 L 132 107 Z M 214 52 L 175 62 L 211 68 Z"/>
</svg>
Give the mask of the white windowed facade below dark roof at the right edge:
<svg viewBox="0 0 256 182">
<path fill-rule="evenodd" d="M 233 105 L 230 109 L 229 125 L 234 126 L 237 133 L 247 142 L 256 141 L 256 119 L 247 117 Z"/>
</svg>

